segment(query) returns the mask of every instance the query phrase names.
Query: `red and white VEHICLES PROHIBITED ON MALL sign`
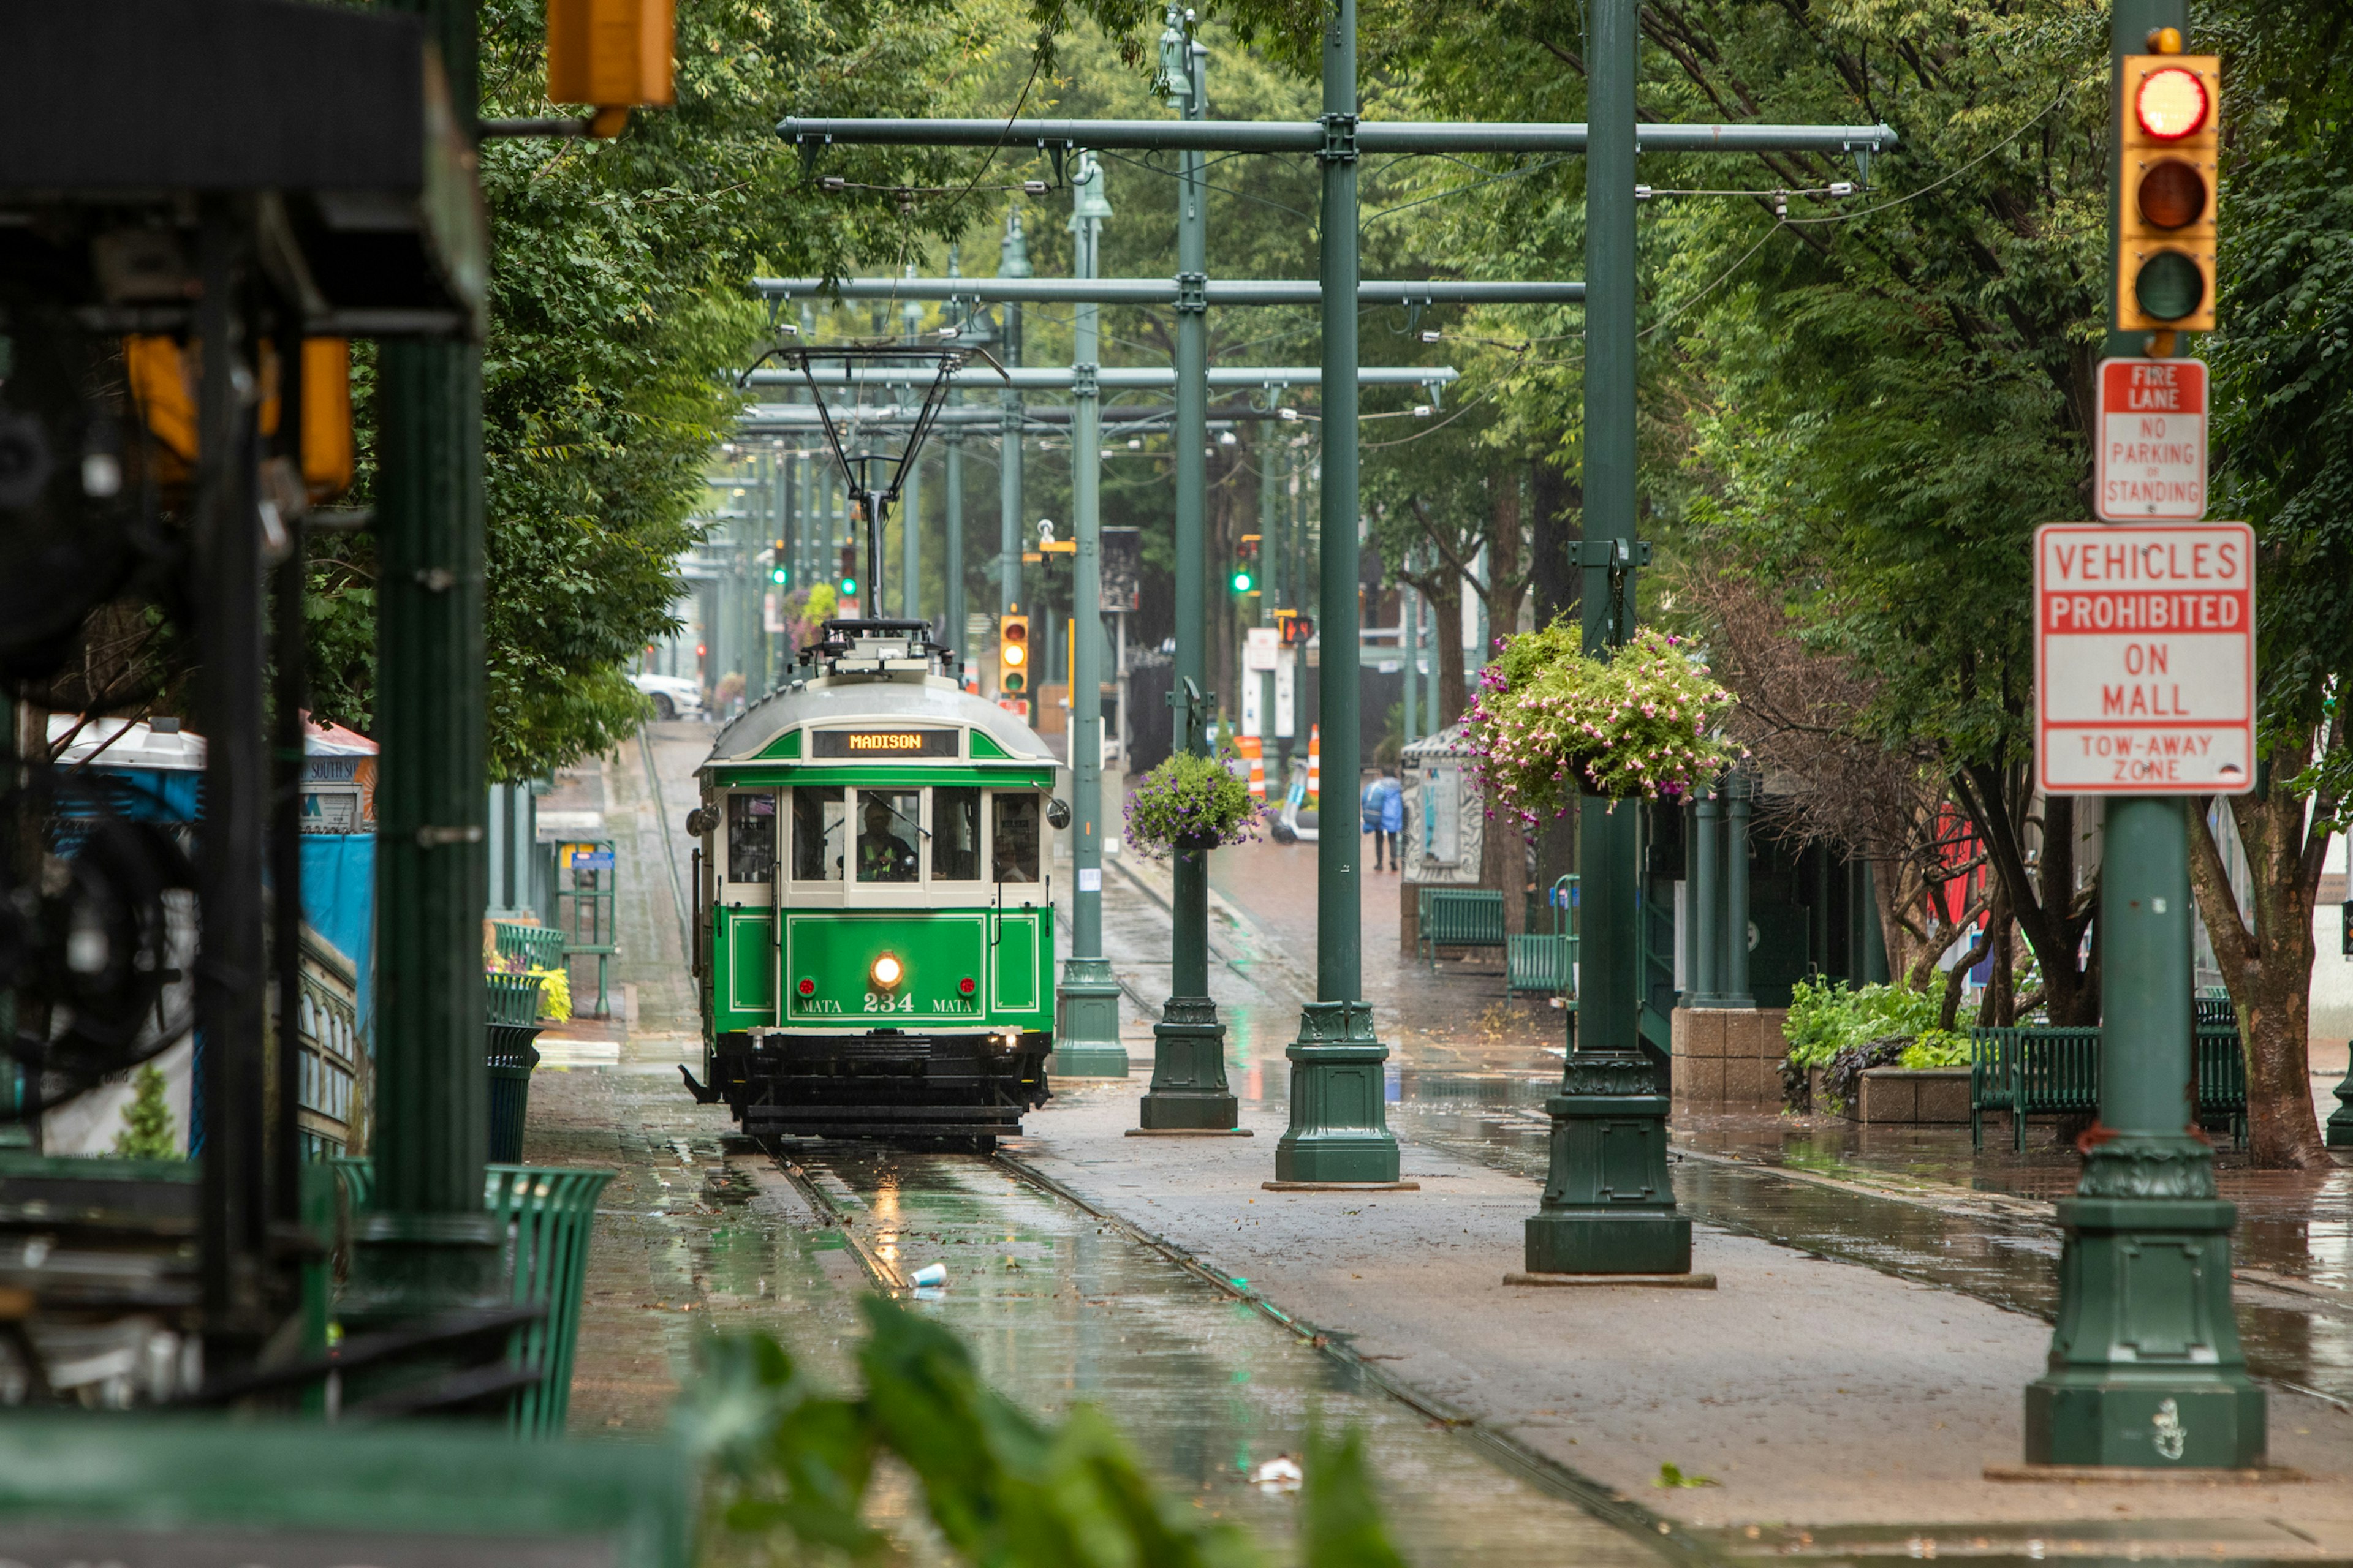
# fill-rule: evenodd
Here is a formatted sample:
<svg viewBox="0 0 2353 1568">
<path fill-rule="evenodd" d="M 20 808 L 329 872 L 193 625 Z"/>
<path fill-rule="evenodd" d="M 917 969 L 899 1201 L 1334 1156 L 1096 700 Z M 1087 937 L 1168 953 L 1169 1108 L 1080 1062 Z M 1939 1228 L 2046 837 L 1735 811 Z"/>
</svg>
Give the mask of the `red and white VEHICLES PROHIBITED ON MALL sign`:
<svg viewBox="0 0 2353 1568">
<path fill-rule="evenodd" d="M 2035 529 L 2035 773 L 2054 795 L 2254 788 L 2254 529 Z"/>
</svg>

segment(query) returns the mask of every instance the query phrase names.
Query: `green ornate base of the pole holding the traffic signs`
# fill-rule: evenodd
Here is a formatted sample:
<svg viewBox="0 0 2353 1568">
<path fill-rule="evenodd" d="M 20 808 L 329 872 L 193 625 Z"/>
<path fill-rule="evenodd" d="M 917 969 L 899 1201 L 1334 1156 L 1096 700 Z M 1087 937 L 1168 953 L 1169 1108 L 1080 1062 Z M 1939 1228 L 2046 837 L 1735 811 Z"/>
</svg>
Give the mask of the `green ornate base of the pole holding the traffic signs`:
<svg viewBox="0 0 2353 1568">
<path fill-rule="evenodd" d="M 2233 1218 L 2193 1138 L 2092 1152 L 2059 1204 L 2059 1326 L 2026 1385 L 2028 1465 L 2264 1465 L 2264 1389 L 2231 1314 Z"/>
</svg>

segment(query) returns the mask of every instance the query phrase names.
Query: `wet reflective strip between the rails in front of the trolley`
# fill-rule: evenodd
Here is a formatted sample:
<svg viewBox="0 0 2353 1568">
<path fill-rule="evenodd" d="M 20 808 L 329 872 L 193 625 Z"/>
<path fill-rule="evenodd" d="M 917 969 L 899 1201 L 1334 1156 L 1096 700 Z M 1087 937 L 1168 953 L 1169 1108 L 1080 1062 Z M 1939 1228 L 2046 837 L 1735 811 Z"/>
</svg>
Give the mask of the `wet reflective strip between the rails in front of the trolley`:
<svg viewBox="0 0 2353 1568">
<path fill-rule="evenodd" d="M 1111 1410 L 1144 1460 L 1195 1505 L 1261 1537 L 1294 1530 L 1297 1495 L 1249 1472 L 1306 1432 L 1362 1427 L 1381 1502 L 1414 1563 L 1657 1563 L 1638 1537 L 1497 1467 L 1471 1436 L 1224 1295 L 1085 1211 L 962 1154 L 795 1152 L 800 1180 L 885 1269 L 944 1265 L 922 1291 L 993 1387 L 1054 1418 Z"/>
</svg>

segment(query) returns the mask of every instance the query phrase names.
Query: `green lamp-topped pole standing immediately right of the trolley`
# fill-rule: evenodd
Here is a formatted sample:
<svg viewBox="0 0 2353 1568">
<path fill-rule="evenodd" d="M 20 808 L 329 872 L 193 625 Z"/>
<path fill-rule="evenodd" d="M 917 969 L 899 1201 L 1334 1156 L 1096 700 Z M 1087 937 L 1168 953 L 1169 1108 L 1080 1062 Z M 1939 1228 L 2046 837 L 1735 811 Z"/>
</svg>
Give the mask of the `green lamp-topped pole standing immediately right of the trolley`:
<svg viewBox="0 0 2353 1568">
<path fill-rule="evenodd" d="M 1096 277 L 1104 219 L 1104 167 L 1082 153 L 1071 176 L 1071 268 Z M 1120 1044 L 1120 983 L 1104 959 L 1104 407 L 1094 371 L 1099 306 L 1073 313 L 1071 407 L 1071 524 L 1078 552 L 1071 567 L 1071 957 L 1054 997 L 1054 1053 L 1047 1072 L 1078 1079 L 1125 1079 Z"/>
</svg>

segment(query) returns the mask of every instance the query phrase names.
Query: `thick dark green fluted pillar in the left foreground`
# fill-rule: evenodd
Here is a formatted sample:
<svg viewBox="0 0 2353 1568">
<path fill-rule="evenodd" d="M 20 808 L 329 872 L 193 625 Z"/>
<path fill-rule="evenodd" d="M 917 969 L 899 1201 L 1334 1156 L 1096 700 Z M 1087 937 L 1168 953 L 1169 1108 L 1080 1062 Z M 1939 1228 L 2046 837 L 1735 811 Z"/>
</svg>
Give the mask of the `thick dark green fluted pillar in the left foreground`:
<svg viewBox="0 0 2353 1568">
<path fill-rule="evenodd" d="M 421 7 L 473 127 L 475 9 Z M 376 1199 L 348 1321 L 494 1305 L 482 1208 L 482 348 L 386 341 L 376 374 Z"/>
</svg>

